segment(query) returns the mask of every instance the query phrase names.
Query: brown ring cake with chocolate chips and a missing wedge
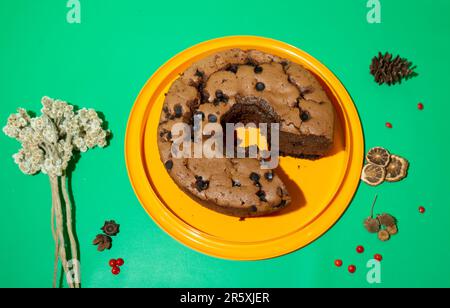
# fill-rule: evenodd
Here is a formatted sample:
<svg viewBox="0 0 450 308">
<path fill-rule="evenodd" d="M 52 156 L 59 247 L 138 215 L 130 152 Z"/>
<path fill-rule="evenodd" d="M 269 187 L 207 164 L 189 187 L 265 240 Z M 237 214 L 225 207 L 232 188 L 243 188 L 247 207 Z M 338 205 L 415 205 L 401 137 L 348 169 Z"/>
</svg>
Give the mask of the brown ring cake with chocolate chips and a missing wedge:
<svg viewBox="0 0 450 308">
<path fill-rule="evenodd" d="M 261 216 L 289 205 L 285 184 L 256 158 L 175 158 L 171 128 L 207 123 L 279 123 L 281 155 L 317 159 L 333 145 L 335 112 L 303 66 L 258 50 L 230 49 L 193 63 L 170 87 L 158 126 L 161 161 L 200 204 L 227 215 Z"/>
</svg>

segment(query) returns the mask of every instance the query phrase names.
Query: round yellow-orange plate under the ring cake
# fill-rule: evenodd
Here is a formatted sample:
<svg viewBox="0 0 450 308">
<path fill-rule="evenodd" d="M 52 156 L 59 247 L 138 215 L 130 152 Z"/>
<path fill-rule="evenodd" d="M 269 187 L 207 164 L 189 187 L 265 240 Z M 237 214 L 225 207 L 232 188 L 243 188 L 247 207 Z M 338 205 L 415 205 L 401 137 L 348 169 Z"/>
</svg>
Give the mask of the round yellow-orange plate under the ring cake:
<svg viewBox="0 0 450 308">
<path fill-rule="evenodd" d="M 316 161 L 281 158 L 281 177 L 293 202 L 276 215 L 229 217 L 208 210 L 183 193 L 159 159 L 157 126 L 167 92 L 192 62 L 229 48 L 259 49 L 287 58 L 322 80 L 338 114 L 332 153 Z M 128 174 L 142 206 L 181 243 L 234 260 L 277 257 L 311 243 L 340 218 L 359 183 L 364 138 L 356 108 L 344 86 L 304 51 L 272 39 L 235 36 L 191 47 L 164 64 L 145 84 L 132 109 L 125 140 Z"/>
</svg>

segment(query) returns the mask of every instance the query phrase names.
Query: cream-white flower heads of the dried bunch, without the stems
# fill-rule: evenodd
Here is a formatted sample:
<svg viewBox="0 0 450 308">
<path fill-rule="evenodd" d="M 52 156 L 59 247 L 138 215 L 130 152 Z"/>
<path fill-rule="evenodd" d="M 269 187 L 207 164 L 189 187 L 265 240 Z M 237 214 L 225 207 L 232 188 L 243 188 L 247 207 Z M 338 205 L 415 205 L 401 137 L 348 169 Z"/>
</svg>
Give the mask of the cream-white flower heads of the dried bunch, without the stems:
<svg viewBox="0 0 450 308">
<path fill-rule="evenodd" d="M 74 111 L 61 100 L 42 98 L 42 115 L 31 118 L 25 109 L 18 109 L 8 118 L 3 132 L 22 143 L 14 161 L 25 174 L 42 171 L 61 176 L 72 159 L 73 151 L 86 152 L 107 145 L 109 131 L 93 109 Z"/>
</svg>

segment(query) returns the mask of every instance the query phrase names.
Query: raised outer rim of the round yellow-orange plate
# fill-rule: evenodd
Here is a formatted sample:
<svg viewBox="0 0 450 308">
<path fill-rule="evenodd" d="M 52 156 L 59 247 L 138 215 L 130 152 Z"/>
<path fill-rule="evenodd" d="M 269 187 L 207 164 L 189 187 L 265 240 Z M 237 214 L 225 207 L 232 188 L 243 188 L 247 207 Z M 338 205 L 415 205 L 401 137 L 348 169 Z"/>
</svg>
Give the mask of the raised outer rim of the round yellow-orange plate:
<svg viewBox="0 0 450 308">
<path fill-rule="evenodd" d="M 340 183 L 339 189 L 330 200 L 330 203 L 334 203 L 337 202 L 337 198 L 341 199 L 338 203 L 340 206 L 339 208 L 333 208 L 333 211 L 330 210 L 330 206 L 327 206 L 324 212 L 316 218 L 316 220 L 320 220 L 321 218 L 323 220 L 323 216 L 327 214 L 326 226 L 319 228 L 320 230 L 309 230 L 311 233 L 309 233 L 307 238 L 303 238 L 302 240 L 301 237 L 294 237 L 298 232 L 293 232 L 293 234 L 287 234 L 281 238 L 255 243 L 238 243 L 226 240 L 217 241 L 217 238 L 193 228 L 176 217 L 176 215 L 171 214 L 171 211 L 166 208 L 164 202 L 160 200 L 153 190 L 152 184 L 149 183 L 148 176 L 144 171 L 146 168 L 144 165 L 146 164 L 142 161 L 143 149 L 140 140 L 145 133 L 148 113 L 151 109 L 151 105 L 148 104 L 149 100 L 144 98 L 148 97 L 150 99 L 160 84 L 158 81 L 162 81 L 167 77 L 167 74 L 161 76 L 161 72 L 167 70 L 166 67 L 169 67 L 171 64 L 177 62 L 182 64 L 182 62 L 185 62 L 182 59 L 185 59 L 188 54 L 201 53 L 204 55 L 208 52 L 206 51 L 207 49 L 211 49 L 210 46 L 216 46 L 211 52 L 215 52 L 218 49 L 238 48 L 239 44 L 237 42 L 242 40 L 246 40 L 246 43 L 240 45 L 252 45 L 258 48 L 258 44 L 265 46 L 269 44 L 271 47 L 276 47 L 276 49 L 283 50 L 283 52 L 287 52 L 292 56 L 301 57 L 308 62 L 308 65 L 315 67 L 316 71 L 320 73 L 321 78 L 326 78 L 327 83 L 338 94 L 341 102 L 350 102 L 350 104 L 345 106 L 345 112 L 343 114 L 348 118 L 347 122 L 356 127 L 351 127 L 348 132 L 345 129 L 344 132 L 346 138 L 350 137 L 352 139 L 352 146 L 349 147 L 351 153 L 349 153 L 348 157 L 352 157 L 354 161 L 348 164 L 343 177 L 344 181 Z M 250 41 L 253 43 L 250 44 Z M 219 48 L 219 45 L 222 46 Z M 191 58 L 189 57 L 189 59 Z M 347 133 L 350 136 L 347 136 Z M 354 135 L 355 133 L 356 135 Z M 146 81 L 136 97 L 128 118 L 124 145 L 126 168 L 131 186 L 141 206 L 153 221 L 162 230 L 185 246 L 209 256 L 228 260 L 262 260 L 279 257 L 301 249 L 323 236 L 339 221 L 340 217 L 350 206 L 360 183 L 359 177 L 364 157 L 364 134 L 360 117 L 350 94 L 340 80 L 325 65 L 307 52 L 290 44 L 259 36 L 227 36 L 207 40 L 177 53 L 161 65 Z M 348 179 L 349 176 L 353 177 L 351 181 Z M 146 180 L 143 181 L 143 178 Z M 349 183 L 344 185 L 345 181 Z M 145 185 L 142 182 L 145 182 Z M 340 196 L 338 196 L 339 194 Z M 153 205 L 154 202 L 158 204 L 158 207 Z M 315 222 L 306 226 L 303 231 L 306 232 L 312 225 L 315 225 Z M 267 243 L 270 243 L 270 247 L 267 247 Z"/>
</svg>

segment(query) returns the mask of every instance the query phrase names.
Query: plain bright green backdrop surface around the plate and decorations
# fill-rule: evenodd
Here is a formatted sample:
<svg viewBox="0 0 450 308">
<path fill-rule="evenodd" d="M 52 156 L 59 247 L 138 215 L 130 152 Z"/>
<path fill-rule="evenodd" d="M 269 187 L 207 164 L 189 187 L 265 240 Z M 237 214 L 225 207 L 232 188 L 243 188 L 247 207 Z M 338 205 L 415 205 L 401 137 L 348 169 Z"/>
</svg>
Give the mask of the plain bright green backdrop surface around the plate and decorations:
<svg viewBox="0 0 450 308">
<path fill-rule="evenodd" d="M 83 286 L 450 287 L 450 1 L 381 4 L 382 23 L 368 24 L 366 0 L 81 0 L 77 25 L 66 22 L 65 0 L 2 0 L 1 122 L 19 106 L 39 111 L 48 95 L 102 111 L 114 133 L 111 145 L 83 155 L 74 173 Z M 353 97 L 366 149 L 381 145 L 411 163 L 402 182 L 361 184 L 345 215 L 313 244 L 258 262 L 208 257 L 160 230 L 133 193 L 123 150 L 134 100 L 160 65 L 196 43 L 242 34 L 290 43 L 322 61 Z M 411 59 L 419 77 L 376 85 L 368 66 L 379 50 Z M 394 128 L 385 128 L 386 121 Z M 11 159 L 18 148 L 0 136 L 0 286 L 50 287 L 50 187 L 43 175 L 20 173 Z M 386 243 L 361 224 L 375 194 L 377 210 L 399 219 L 400 234 Z M 111 251 L 98 253 L 91 241 L 106 219 L 121 223 L 121 233 Z M 355 252 L 359 244 L 362 255 Z M 374 253 L 384 256 L 380 285 L 366 281 L 365 263 Z M 117 257 L 126 265 L 113 277 L 108 260 Z M 358 271 L 335 268 L 336 258 Z"/>
</svg>

